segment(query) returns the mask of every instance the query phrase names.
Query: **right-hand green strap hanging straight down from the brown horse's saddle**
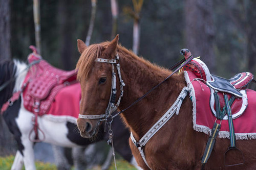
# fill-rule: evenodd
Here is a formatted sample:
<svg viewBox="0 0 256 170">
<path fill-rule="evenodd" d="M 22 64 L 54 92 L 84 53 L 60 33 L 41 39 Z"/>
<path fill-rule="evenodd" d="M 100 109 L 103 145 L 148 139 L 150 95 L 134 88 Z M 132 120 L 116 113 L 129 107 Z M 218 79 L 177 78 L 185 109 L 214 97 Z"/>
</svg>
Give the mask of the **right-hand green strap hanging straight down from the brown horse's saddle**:
<svg viewBox="0 0 256 170">
<path fill-rule="evenodd" d="M 234 136 L 234 125 L 233 125 L 231 108 L 229 106 L 227 94 L 224 94 L 224 100 L 225 100 L 225 105 L 227 108 L 228 127 L 229 127 L 229 133 L 230 133 L 230 147 L 234 148 L 234 147 L 236 147 L 236 138 Z"/>
</svg>

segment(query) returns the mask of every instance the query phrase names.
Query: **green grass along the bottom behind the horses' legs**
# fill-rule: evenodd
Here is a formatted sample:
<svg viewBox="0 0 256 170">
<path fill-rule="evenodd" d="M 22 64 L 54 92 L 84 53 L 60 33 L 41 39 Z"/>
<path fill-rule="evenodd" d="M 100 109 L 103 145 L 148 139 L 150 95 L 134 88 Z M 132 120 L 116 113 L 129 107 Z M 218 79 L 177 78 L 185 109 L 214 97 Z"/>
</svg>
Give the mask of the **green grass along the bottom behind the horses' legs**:
<svg viewBox="0 0 256 170">
<path fill-rule="evenodd" d="M 12 167 L 12 163 L 14 161 L 14 156 L 7 156 L 7 157 L 0 157 L 0 169 L 1 170 L 10 170 Z M 117 169 L 118 170 L 136 170 L 134 166 L 129 164 L 127 161 L 124 161 L 122 159 L 117 159 Z M 44 163 L 44 162 L 39 162 L 36 161 L 35 163 L 36 169 L 37 170 L 55 170 L 57 169 L 56 165 L 51 164 L 51 163 Z M 96 168 L 97 169 L 97 168 Z M 115 169 L 115 164 L 114 161 L 111 164 L 110 170 Z M 23 167 L 23 170 L 25 168 Z"/>
</svg>

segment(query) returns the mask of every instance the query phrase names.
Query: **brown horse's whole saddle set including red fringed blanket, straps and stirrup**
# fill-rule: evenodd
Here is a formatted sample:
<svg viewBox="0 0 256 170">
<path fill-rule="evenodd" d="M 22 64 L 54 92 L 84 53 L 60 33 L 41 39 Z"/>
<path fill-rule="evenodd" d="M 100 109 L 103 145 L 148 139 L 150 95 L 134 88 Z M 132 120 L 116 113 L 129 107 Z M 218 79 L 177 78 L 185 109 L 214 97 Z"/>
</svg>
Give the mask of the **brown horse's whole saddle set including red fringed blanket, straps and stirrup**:
<svg viewBox="0 0 256 170">
<path fill-rule="evenodd" d="M 254 124 L 255 114 L 252 108 L 255 102 L 252 96 L 253 93 L 255 95 L 255 91 L 246 89 L 253 80 L 253 75 L 250 72 L 241 72 L 230 79 L 224 79 L 211 75 L 207 66 L 199 59 L 191 60 L 183 68 L 186 70 L 184 76 L 193 103 L 193 128 L 209 134 L 201 159 L 201 169 L 204 169 L 218 135 L 230 139 L 230 147 L 224 153 L 225 166 L 243 164 L 244 156 L 236 147 L 236 139 L 254 138 L 255 128 L 251 125 Z M 209 112 L 214 116 L 207 114 Z M 242 113 L 245 113 L 244 116 L 236 119 Z M 210 128 L 212 125 L 213 127 Z M 248 129 L 244 128 L 247 126 Z M 227 161 L 228 157 L 234 155 L 239 156 L 240 161 Z"/>
</svg>

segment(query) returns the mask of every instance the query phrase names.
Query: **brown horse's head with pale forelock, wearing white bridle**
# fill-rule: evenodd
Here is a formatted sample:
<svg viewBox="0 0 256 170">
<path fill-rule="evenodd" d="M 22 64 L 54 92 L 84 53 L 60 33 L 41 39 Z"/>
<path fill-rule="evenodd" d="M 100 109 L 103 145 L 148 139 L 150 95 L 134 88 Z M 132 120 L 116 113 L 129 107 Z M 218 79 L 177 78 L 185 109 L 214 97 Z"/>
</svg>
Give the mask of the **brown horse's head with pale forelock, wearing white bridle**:
<svg viewBox="0 0 256 170">
<path fill-rule="evenodd" d="M 77 126 L 82 137 L 91 138 L 96 135 L 101 122 L 100 118 L 105 118 L 106 110 L 110 109 L 110 98 L 113 97 L 113 69 L 117 75 L 116 79 L 120 80 L 117 68 L 113 65 L 116 63 L 112 63 L 116 57 L 117 43 L 118 36 L 111 42 L 90 46 L 78 40 L 78 51 L 81 56 L 76 69 L 82 98 Z M 120 81 L 116 83 L 116 87 L 119 87 Z M 120 91 L 116 95 L 119 94 Z M 116 100 L 112 100 L 115 103 Z"/>
</svg>

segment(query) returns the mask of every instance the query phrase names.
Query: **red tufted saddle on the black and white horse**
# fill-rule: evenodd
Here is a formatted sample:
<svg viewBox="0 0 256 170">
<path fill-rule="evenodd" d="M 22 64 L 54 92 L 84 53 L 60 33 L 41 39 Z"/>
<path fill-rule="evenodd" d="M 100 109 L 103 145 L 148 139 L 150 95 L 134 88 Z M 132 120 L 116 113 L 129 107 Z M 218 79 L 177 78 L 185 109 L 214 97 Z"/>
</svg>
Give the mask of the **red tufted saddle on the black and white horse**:
<svg viewBox="0 0 256 170">
<path fill-rule="evenodd" d="M 39 63 L 30 67 L 23 83 L 25 108 L 41 116 L 49 111 L 57 92 L 70 84 L 76 83 L 76 71 L 65 71 L 53 67 L 34 51 L 28 56 L 28 62 Z"/>
</svg>

